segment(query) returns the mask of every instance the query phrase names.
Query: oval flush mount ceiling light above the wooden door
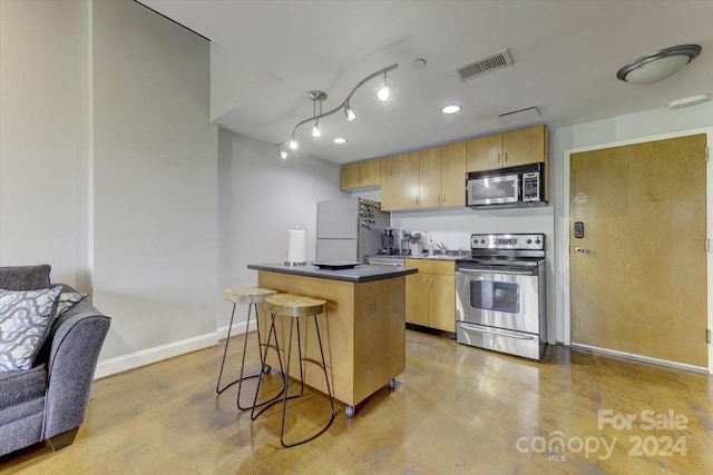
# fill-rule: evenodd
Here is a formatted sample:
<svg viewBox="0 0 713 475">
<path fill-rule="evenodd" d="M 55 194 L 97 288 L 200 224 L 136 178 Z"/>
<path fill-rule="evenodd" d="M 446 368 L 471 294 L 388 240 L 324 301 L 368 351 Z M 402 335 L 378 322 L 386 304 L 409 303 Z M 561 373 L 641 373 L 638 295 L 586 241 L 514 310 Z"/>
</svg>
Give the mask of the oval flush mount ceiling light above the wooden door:
<svg viewBox="0 0 713 475">
<path fill-rule="evenodd" d="M 699 44 L 680 44 L 643 56 L 618 70 L 616 77 L 625 82 L 649 85 L 673 76 L 701 52 Z"/>
</svg>

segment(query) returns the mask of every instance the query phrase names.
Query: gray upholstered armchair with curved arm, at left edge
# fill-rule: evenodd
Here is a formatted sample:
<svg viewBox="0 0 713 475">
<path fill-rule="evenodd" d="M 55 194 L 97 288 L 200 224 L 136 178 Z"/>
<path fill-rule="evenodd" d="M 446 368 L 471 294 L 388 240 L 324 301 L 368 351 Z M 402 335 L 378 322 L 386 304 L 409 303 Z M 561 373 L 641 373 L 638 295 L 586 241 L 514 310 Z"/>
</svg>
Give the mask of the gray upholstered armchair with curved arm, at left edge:
<svg viewBox="0 0 713 475">
<path fill-rule="evenodd" d="M 0 267 L 0 288 L 48 288 L 49 266 Z M 62 291 L 75 291 L 62 285 Z M 0 372 L 0 456 L 48 439 L 75 441 L 110 318 L 86 299 L 51 326 L 32 367 Z"/>
</svg>

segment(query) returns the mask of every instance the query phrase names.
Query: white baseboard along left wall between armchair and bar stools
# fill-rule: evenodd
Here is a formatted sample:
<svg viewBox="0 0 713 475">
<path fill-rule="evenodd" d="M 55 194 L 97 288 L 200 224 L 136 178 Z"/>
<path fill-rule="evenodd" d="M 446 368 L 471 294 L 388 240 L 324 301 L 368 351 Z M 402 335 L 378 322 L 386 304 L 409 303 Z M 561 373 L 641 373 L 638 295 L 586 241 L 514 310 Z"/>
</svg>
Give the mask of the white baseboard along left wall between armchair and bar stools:
<svg viewBox="0 0 713 475">
<path fill-rule="evenodd" d="M 246 323 L 241 321 L 234 324 L 231 330 L 231 337 L 243 335 L 245 333 Z M 251 329 L 256 328 L 255 320 L 251 319 Z M 216 329 L 213 333 L 198 335 L 193 338 L 182 339 L 179 342 L 169 343 L 154 348 L 143 349 L 140 352 L 130 353 L 128 355 L 117 356 L 115 358 L 105 359 L 97 364 L 94 378 L 99 379 L 130 369 L 140 368 L 141 366 L 152 365 L 163 362 L 164 359 L 175 358 L 176 356 L 187 353 L 197 352 L 198 349 L 209 348 L 219 343 L 221 339 L 227 337 L 227 325 Z M 216 372 L 218 360 L 216 359 Z M 216 373 L 217 374 L 217 373 Z"/>
</svg>

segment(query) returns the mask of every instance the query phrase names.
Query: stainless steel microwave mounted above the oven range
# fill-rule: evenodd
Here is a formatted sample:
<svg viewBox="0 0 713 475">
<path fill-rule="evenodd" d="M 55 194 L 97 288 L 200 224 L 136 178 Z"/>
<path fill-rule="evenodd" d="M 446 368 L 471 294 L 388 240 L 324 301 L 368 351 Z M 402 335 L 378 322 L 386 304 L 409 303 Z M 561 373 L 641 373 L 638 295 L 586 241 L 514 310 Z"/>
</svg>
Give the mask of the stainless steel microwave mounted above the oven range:
<svg viewBox="0 0 713 475">
<path fill-rule="evenodd" d="M 466 175 L 466 205 L 520 207 L 546 205 L 545 166 L 541 162 Z"/>
</svg>

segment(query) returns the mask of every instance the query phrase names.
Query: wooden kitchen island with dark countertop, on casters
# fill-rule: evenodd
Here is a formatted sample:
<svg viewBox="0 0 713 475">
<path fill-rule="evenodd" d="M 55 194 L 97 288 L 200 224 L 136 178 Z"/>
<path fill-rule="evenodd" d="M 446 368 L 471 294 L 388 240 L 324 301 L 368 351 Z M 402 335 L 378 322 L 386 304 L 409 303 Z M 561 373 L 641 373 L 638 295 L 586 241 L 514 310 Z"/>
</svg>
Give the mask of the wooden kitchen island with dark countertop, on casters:
<svg viewBox="0 0 713 475">
<path fill-rule="evenodd" d="M 322 270 L 312 264 L 251 264 L 247 268 L 258 271 L 260 287 L 326 300 L 326 314 L 319 316 L 322 345 L 332 393 L 346 405 L 348 417 L 379 388 L 393 386 L 394 378 L 406 369 L 406 276 L 417 269 L 359 265 L 352 269 Z M 270 326 L 263 308 L 258 318 L 266 342 Z M 284 362 L 289 319 L 279 318 L 276 327 Z M 314 325 L 310 323 L 302 328 L 305 356 L 319 359 Z M 299 377 L 297 355 L 292 357 L 290 374 Z M 268 352 L 266 363 L 279 367 L 275 352 Z M 321 369 L 305 365 L 304 370 L 305 383 L 326 394 Z"/>
</svg>

